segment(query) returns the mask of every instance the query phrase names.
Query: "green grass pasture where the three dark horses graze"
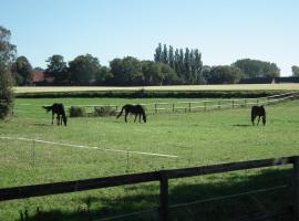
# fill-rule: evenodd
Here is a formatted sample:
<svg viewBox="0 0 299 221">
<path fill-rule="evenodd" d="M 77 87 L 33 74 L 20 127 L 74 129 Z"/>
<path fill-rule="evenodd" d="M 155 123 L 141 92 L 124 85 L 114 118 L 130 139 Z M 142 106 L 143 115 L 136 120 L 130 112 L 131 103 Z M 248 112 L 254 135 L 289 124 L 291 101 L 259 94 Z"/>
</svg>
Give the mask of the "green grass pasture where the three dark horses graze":
<svg viewBox="0 0 299 221">
<path fill-rule="evenodd" d="M 134 124 L 133 117 L 128 117 L 127 124 L 123 118 L 115 119 L 113 116 L 70 118 L 68 127 L 52 126 L 51 115 L 41 108 L 42 105 L 53 102 L 71 106 L 177 101 L 175 98 L 18 98 L 14 105 L 16 116 L 9 122 L 0 122 L 1 137 L 23 137 L 99 148 L 0 139 L 0 188 L 153 171 L 163 168 L 276 158 L 299 152 L 298 99 L 266 106 L 267 125 L 265 127 L 251 126 L 249 107 L 186 114 L 156 114 L 150 115 L 146 124 Z M 177 157 L 140 155 L 130 151 Z M 282 171 L 287 171 L 286 169 Z M 278 170 L 278 175 L 260 169 L 178 179 L 172 181 L 171 203 L 246 191 L 262 187 L 262 185 L 288 182 L 288 172 Z M 258 178 L 259 175 L 264 179 Z M 20 210 L 28 210 L 29 217 L 38 220 L 37 207 L 44 213 L 43 220 L 47 220 L 45 218 L 49 220 L 86 220 L 87 212 L 95 218 L 109 217 L 114 214 L 113 211 L 124 213 L 155 207 L 158 200 L 157 191 L 155 185 L 148 183 L 0 202 L 0 220 L 20 219 Z M 248 204 L 252 208 L 268 210 L 274 204 L 283 206 L 287 199 L 281 196 L 271 196 L 269 200 L 262 200 L 261 196 L 261 198 L 255 196 L 252 199 L 241 199 L 237 202 L 240 207 L 235 207 L 234 211 L 238 214 L 243 214 L 245 210 L 248 212 L 250 211 Z M 231 203 L 234 207 L 236 202 Z M 267 209 L 267 207 L 269 208 Z M 207 207 L 206 210 L 210 209 Z M 187 219 L 193 220 L 190 210 L 176 212 L 178 220 L 179 215 L 186 218 L 186 214 L 189 215 Z M 155 214 L 151 215 L 148 219 L 146 215 L 143 219 L 156 218 Z"/>
</svg>

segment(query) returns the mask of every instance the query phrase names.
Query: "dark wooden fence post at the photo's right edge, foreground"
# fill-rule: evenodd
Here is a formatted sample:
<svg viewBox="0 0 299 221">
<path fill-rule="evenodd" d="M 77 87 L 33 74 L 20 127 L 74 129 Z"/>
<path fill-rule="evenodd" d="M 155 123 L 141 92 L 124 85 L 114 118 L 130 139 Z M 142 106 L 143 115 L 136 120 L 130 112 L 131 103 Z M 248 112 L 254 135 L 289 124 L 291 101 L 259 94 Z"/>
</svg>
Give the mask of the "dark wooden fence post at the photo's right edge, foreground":
<svg viewBox="0 0 299 221">
<path fill-rule="evenodd" d="M 299 221 L 299 157 L 293 157 L 293 220 Z"/>
</svg>

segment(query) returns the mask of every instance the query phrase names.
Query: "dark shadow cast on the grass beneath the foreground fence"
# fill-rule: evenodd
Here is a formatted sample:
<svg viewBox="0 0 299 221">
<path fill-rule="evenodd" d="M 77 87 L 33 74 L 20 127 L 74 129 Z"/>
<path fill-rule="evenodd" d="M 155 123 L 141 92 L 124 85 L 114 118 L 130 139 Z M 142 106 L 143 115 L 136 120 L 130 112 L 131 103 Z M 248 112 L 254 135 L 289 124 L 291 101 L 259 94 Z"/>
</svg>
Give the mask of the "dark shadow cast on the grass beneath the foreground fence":
<svg viewBox="0 0 299 221">
<path fill-rule="evenodd" d="M 228 176 L 214 175 L 206 176 L 205 179 L 187 178 L 169 180 L 169 217 L 172 221 L 179 220 L 241 220 L 245 217 L 254 219 L 254 215 L 267 215 L 271 212 L 280 211 L 291 204 L 291 170 L 260 170 L 255 175 L 245 175 L 230 172 Z M 188 181 L 188 182 L 187 182 Z M 287 188 L 282 186 L 288 186 Z M 260 191 L 252 193 L 256 189 L 271 187 L 281 187 L 271 191 Z M 143 189 L 141 189 L 143 188 Z M 116 197 L 109 199 L 105 197 L 86 197 L 80 198 L 78 210 L 74 212 L 38 211 L 33 217 L 29 215 L 28 221 L 87 221 L 101 220 L 103 218 L 117 214 L 131 213 L 141 210 L 147 210 L 158 207 L 159 196 L 158 185 L 146 185 L 124 187 L 127 194 L 132 196 Z M 113 191 L 113 189 L 111 189 Z M 146 193 L 142 193 L 146 192 Z M 152 192 L 152 193 L 151 193 Z M 154 192 L 154 193 L 153 193 Z M 251 192 L 250 194 L 238 194 L 240 192 Z M 205 199 L 218 198 L 224 196 L 238 194 L 234 198 L 204 201 L 175 208 L 175 204 L 203 201 Z M 97 206 L 96 206 L 97 204 Z M 101 206 L 100 206 L 101 204 Z M 20 219 L 21 220 L 21 219 Z M 115 220 L 158 220 L 157 210 L 154 212 L 135 214 L 128 218 Z M 271 218 L 270 220 L 276 220 Z M 288 217 L 280 217 L 279 220 L 288 220 Z"/>
</svg>

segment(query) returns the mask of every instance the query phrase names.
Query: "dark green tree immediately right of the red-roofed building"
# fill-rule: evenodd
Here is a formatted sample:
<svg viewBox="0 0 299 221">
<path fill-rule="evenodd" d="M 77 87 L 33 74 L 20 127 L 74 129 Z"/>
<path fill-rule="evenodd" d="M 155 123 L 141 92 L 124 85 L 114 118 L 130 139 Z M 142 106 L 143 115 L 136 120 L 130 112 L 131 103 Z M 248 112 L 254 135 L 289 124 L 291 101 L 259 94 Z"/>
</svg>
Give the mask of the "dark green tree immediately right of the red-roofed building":
<svg viewBox="0 0 299 221">
<path fill-rule="evenodd" d="M 55 82 L 65 82 L 70 81 L 70 73 L 64 62 L 64 57 L 60 54 L 54 54 L 50 56 L 45 62 L 48 62 L 45 73 L 53 76 Z"/>
</svg>

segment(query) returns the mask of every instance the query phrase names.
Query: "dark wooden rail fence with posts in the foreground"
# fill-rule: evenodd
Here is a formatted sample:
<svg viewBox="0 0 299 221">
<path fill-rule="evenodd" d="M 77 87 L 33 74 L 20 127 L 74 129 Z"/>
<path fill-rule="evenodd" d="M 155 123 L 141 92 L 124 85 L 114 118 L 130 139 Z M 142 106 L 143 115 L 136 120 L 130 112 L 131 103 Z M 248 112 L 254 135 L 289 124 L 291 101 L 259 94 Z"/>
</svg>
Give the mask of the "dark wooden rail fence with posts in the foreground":
<svg viewBox="0 0 299 221">
<path fill-rule="evenodd" d="M 295 221 L 299 221 L 299 156 L 277 158 L 277 159 L 261 159 L 241 162 L 230 162 L 204 167 L 193 167 L 184 169 L 171 169 L 161 171 L 151 171 L 142 173 L 131 173 L 86 180 L 74 180 L 44 185 L 33 185 L 23 187 L 12 187 L 0 189 L 0 201 L 24 199 L 31 197 L 49 196 L 56 193 L 76 192 L 100 188 L 117 187 L 125 185 L 135 185 L 150 181 L 159 182 L 159 220 L 168 220 L 168 210 L 173 206 L 168 206 L 168 180 L 177 178 L 187 178 L 194 176 L 204 176 L 212 173 L 220 173 L 237 170 L 247 170 L 255 168 L 293 165 L 292 172 L 292 189 L 293 196 L 292 215 Z"/>
</svg>

